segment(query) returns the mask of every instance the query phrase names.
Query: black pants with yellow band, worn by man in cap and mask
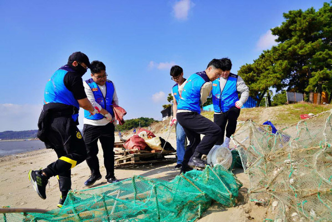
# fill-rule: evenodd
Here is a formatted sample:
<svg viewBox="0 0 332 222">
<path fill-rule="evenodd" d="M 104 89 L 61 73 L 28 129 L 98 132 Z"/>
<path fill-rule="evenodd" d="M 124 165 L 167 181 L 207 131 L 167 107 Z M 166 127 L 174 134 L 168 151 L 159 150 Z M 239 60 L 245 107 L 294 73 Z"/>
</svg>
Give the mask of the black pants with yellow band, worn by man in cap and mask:
<svg viewBox="0 0 332 222">
<path fill-rule="evenodd" d="M 71 117 L 57 117 L 49 121 L 45 136 L 47 137 L 45 146 L 54 149 L 58 160 L 49 164 L 43 172 L 47 177 L 59 176 L 60 190 L 69 190 L 70 169 L 87 157 L 82 134 Z"/>
</svg>

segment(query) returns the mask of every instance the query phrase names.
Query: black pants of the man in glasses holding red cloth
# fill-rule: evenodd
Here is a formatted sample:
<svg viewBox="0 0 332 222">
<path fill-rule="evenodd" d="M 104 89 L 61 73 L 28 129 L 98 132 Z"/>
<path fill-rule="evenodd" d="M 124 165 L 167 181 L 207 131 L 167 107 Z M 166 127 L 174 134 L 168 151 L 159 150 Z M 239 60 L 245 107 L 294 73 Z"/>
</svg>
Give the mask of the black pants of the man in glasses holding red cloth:
<svg viewBox="0 0 332 222">
<path fill-rule="evenodd" d="M 106 177 L 114 177 L 114 124 L 109 123 L 105 126 L 92 126 L 84 124 L 84 140 L 87 146 L 87 163 L 91 170 L 91 175 L 100 175 L 98 161 L 98 139 L 104 154 L 104 165 L 106 168 Z"/>
</svg>

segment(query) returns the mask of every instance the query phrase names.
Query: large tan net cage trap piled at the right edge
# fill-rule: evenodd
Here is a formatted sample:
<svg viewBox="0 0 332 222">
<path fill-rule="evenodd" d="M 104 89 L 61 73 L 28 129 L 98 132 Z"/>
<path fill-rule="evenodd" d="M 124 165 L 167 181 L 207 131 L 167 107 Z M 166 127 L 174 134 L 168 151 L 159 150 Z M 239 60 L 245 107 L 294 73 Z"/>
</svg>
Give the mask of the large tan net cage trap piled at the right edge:
<svg viewBox="0 0 332 222">
<path fill-rule="evenodd" d="M 247 120 L 234 133 L 250 200 L 267 206 L 264 221 L 332 221 L 332 110 L 273 134 Z"/>
</svg>

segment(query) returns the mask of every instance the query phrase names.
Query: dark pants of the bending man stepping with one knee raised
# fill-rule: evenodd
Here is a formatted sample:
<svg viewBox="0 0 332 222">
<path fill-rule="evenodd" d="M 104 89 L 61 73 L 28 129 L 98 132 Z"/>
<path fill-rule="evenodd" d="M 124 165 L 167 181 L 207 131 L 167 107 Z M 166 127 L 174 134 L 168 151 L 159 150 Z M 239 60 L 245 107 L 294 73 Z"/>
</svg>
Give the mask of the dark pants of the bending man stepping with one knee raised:
<svg viewBox="0 0 332 222">
<path fill-rule="evenodd" d="M 178 112 L 177 121 L 183 127 L 190 143 L 184 153 L 184 165 L 195 151 L 207 155 L 220 137 L 220 127 L 197 112 Z M 204 134 L 202 140 L 200 134 Z"/>
</svg>

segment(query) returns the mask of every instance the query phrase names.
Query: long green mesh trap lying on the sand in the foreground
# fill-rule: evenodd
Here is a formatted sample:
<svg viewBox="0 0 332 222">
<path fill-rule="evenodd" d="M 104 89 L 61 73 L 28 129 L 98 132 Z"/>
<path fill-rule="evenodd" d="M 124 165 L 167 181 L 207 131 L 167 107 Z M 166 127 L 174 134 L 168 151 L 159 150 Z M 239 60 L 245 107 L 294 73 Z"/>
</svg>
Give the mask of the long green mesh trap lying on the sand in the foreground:
<svg viewBox="0 0 332 222">
<path fill-rule="evenodd" d="M 114 184 L 70 191 L 64 206 L 47 213 L 0 214 L 0 222 L 187 222 L 216 200 L 235 205 L 242 186 L 221 166 L 193 170 L 171 181 L 134 176 Z"/>
</svg>

